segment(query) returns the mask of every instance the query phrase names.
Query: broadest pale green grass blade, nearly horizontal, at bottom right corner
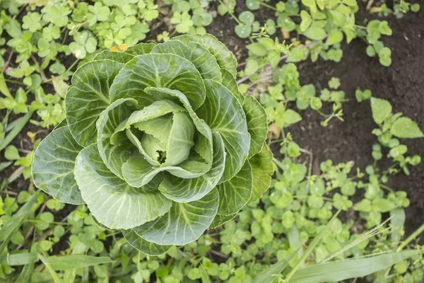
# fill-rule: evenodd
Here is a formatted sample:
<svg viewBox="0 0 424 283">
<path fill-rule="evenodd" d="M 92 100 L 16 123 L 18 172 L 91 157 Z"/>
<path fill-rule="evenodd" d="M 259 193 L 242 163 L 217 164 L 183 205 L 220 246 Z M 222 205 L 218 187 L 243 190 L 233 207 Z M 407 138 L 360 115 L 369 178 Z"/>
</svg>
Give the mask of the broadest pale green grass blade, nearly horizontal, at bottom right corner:
<svg viewBox="0 0 424 283">
<path fill-rule="evenodd" d="M 350 278 L 364 277 L 384 270 L 401 260 L 417 255 L 418 250 L 406 250 L 400 253 L 388 253 L 353 260 L 340 260 L 312 265 L 298 270 L 290 283 L 338 282 Z"/>
</svg>

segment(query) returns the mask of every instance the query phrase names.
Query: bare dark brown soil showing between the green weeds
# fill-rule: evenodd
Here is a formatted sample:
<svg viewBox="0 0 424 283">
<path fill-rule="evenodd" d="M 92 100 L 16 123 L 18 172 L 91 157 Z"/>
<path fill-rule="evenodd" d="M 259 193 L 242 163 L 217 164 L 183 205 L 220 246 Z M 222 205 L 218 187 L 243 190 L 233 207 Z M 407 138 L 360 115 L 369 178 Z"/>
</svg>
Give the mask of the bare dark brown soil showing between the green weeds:
<svg viewBox="0 0 424 283">
<path fill-rule="evenodd" d="M 217 5 L 217 2 L 211 4 Z M 341 90 L 346 92 L 350 100 L 343 103 L 343 118 L 345 122 L 331 120 L 329 126 L 324 128 L 319 125 L 322 117 L 316 112 L 307 110 L 302 112 L 302 122 L 290 128 L 295 141 L 304 149 L 313 152 L 315 163 L 331 159 L 334 163 L 354 161 L 355 166 L 364 169 L 372 164 L 372 144 L 377 140 L 371 134 L 375 124 L 372 120 L 368 102 L 357 103 L 355 89 L 370 89 L 373 96 L 390 101 L 394 112 L 403 112 L 424 129 L 424 5 L 422 1 L 419 13 L 408 13 L 401 19 L 393 16 L 386 18 L 393 30 L 393 35 L 382 37 L 384 45 L 390 47 L 391 67 L 383 67 L 378 59 L 367 57 L 365 42 L 353 40 L 349 45 L 343 45 L 343 59 L 339 63 L 326 62 L 318 59 L 298 64 L 300 83 L 313 83 L 320 88 L 326 87 L 331 77 L 341 80 Z M 216 11 L 216 6 L 211 7 Z M 237 1 L 235 13 L 245 11 L 244 1 Z M 360 7 L 357 14 L 357 23 L 365 23 L 365 19 L 372 16 L 365 13 L 365 8 Z M 255 17 L 261 23 L 273 17 L 273 11 L 262 8 L 255 12 Z M 161 24 L 160 24 L 161 25 Z M 148 38 L 165 30 L 160 26 L 153 30 Z M 208 33 L 218 37 L 235 53 L 239 62 L 244 62 L 247 57 L 245 45 L 249 40 L 242 40 L 234 33 L 235 21 L 227 16 L 216 16 L 213 24 L 207 28 Z M 281 33 L 278 31 L 278 37 Z M 71 64 L 70 62 L 66 64 Z M 4 110 L 0 117 L 4 117 Z M 35 116 L 34 116 L 35 117 Z M 26 132 L 36 132 L 33 125 L 28 124 L 12 144 L 18 149 L 29 149 L 30 142 Z M 20 141 L 24 140 L 23 144 Z M 26 140 L 26 141 L 25 141 Z M 408 146 L 409 154 L 418 154 L 424 158 L 424 139 L 402 140 Z M 411 168 L 411 175 L 400 173 L 389 181 L 389 186 L 395 190 L 405 190 L 411 200 L 411 205 L 406 209 L 406 232 L 411 233 L 424 222 L 424 161 L 415 168 Z M 8 178 L 12 169 L 0 172 L 0 178 Z M 28 181 L 16 180 L 8 189 L 19 191 L 26 190 Z M 424 236 L 422 236 L 424 240 Z"/>
</svg>

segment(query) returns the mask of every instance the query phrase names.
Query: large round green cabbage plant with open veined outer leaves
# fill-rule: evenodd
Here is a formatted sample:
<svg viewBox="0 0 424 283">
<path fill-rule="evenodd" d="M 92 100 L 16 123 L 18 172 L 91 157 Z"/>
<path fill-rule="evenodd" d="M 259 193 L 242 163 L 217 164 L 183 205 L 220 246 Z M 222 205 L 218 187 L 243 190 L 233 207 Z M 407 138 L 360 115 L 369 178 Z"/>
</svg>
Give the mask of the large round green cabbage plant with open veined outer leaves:
<svg viewBox="0 0 424 283">
<path fill-rule="evenodd" d="M 211 35 L 104 51 L 72 76 L 66 120 L 35 151 L 33 180 L 86 204 L 151 255 L 195 241 L 268 189 L 266 113 Z"/>
</svg>

